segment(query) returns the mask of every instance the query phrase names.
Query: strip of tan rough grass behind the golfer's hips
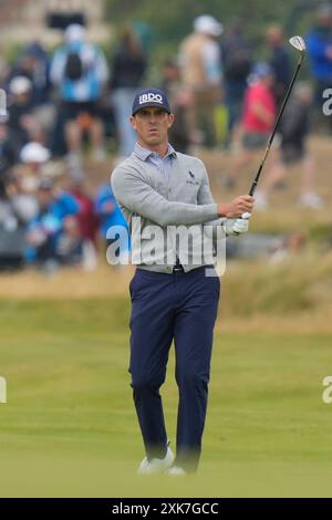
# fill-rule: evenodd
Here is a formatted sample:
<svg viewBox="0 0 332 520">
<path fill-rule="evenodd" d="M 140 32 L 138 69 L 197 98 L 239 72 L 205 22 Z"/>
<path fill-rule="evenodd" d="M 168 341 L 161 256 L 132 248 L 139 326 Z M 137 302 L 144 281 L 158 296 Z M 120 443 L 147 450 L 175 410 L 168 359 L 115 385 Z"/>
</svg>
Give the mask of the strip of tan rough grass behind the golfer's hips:
<svg viewBox="0 0 332 520">
<path fill-rule="evenodd" d="M 304 252 L 290 256 L 280 263 L 267 258 L 251 261 L 229 261 L 221 279 L 221 312 L 229 326 L 243 322 L 250 326 L 258 316 L 271 321 L 282 319 L 284 326 L 305 330 L 313 321 L 313 331 L 331 331 L 332 253 L 318 256 Z M 91 300 L 126 297 L 133 269 L 101 266 L 95 272 L 63 270 L 46 278 L 38 272 L 0 277 L 2 308 L 15 301 Z M 309 322 L 308 322 L 309 319 Z M 279 329 L 279 326 L 278 326 Z"/>
</svg>

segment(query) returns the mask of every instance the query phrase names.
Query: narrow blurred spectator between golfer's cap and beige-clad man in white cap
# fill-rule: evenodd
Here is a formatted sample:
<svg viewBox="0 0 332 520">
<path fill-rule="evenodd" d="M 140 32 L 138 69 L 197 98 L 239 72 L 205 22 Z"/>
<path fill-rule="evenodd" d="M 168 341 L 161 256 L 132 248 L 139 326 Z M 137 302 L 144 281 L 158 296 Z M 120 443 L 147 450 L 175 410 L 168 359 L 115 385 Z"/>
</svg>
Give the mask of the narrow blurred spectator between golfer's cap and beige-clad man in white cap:
<svg viewBox="0 0 332 520">
<path fill-rule="evenodd" d="M 181 85 L 179 67 L 173 60 L 165 61 L 162 74 L 160 89 L 166 93 L 175 116 L 168 132 L 169 143 L 178 152 L 187 154 L 190 145 L 187 112 L 191 103 L 191 94 Z"/>
</svg>

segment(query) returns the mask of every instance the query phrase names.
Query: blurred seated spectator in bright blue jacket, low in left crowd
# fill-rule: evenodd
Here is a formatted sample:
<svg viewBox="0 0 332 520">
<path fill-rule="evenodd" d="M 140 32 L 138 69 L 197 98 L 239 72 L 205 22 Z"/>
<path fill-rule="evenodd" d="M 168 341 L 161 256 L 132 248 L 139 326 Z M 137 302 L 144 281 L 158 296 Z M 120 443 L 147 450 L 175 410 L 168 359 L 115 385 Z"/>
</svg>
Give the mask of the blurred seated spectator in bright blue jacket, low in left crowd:
<svg viewBox="0 0 332 520">
<path fill-rule="evenodd" d="M 76 219 L 79 205 L 66 193 L 56 191 L 50 178 L 38 186 L 39 212 L 28 227 L 28 260 L 35 261 L 46 272 L 60 263 L 74 264 L 82 259 L 82 240 Z"/>
</svg>

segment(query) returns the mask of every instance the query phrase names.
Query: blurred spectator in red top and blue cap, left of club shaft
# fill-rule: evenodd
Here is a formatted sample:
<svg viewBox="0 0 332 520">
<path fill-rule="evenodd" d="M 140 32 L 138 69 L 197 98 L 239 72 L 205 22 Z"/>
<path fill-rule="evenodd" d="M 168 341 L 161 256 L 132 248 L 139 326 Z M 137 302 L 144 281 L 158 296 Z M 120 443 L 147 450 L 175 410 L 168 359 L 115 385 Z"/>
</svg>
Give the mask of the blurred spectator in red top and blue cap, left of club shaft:
<svg viewBox="0 0 332 520">
<path fill-rule="evenodd" d="M 252 158 L 261 154 L 268 144 L 277 117 L 277 106 L 273 96 L 273 70 L 269 63 L 258 63 L 250 77 L 245 94 L 241 117 L 242 150 L 237 157 L 232 171 L 225 179 L 225 185 L 234 187 L 241 168 Z M 273 162 L 273 150 L 269 160 Z"/>
</svg>

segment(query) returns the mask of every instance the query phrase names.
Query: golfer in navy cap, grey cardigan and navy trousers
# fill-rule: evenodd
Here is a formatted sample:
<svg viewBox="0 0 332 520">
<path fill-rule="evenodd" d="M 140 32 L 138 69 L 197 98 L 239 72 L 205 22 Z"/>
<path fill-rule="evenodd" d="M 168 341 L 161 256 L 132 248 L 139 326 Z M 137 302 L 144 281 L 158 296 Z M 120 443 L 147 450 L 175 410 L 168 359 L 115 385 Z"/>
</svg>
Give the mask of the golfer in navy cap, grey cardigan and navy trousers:
<svg viewBox="0 0 332 520">
<path fill-rule="evenodd" d="M 199 254 L 207 230 L 203 225 L 227 235 L 246 232 L 248 219 L 240 217 L 253 207 L 247 195 L 214 202 L 201 160 L 177 153 L 168 143 L 173 122 L 163 91 L 139 91 L 131 116 L 137 143 L 111 177 L 132 230 L 132 262 L 137 267 L 129 284 L 129 372 L 146 451 L 141 475 L 184 475 L 198 466 L 220 289 L 212 260 Z M 193 231 L 193 241 L 177 241 L 177 230 Z M 153 251 L 144 239 L 152 235 Z M 159 395 L 173 340 L 179 389 L 176 458 Z"/>
</svg>

